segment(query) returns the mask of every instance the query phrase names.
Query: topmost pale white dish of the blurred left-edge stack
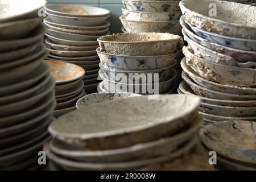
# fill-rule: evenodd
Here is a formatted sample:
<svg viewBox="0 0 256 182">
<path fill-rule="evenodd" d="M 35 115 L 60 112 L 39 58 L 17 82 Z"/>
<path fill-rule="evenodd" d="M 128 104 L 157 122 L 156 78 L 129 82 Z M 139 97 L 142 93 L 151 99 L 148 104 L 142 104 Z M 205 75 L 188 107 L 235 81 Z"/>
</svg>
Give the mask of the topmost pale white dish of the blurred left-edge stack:
<svg viewBox="0 0 256 182">
<path fill-rule="evenodd" d="M 46 1 L 39 0 L 13 0 L 1 1 L 0 23 L 11 22 L 14 20 L 35 18 L 38 16 L 38 10 L 46 5 Z"/>
</svg>

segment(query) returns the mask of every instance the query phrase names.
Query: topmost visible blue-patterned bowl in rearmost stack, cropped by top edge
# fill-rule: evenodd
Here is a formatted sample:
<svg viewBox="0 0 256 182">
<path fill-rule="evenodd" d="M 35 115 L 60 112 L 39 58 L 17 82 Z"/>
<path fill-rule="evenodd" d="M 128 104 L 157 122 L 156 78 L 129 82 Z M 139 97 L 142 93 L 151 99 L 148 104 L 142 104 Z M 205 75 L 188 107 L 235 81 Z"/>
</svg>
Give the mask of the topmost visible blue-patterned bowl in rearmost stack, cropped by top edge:
<svg viewBox="0 0 256 182">
<path fill-rule="evenodd" d="M 123 6 L 130 11 L 180 11 L 179 1 L 138 1 L 122 0 Z"/>
</svg>

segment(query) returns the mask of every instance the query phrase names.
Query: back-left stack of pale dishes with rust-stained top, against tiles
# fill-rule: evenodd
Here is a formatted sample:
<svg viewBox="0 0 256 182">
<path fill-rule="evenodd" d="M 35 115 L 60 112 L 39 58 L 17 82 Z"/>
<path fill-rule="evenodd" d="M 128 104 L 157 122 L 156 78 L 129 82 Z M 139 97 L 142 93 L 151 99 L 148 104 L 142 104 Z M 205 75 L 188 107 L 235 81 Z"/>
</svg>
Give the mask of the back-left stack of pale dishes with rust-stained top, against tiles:
<svg viewBox="0 0 256 182">
<path fill-rule="evenodd" d="M 47 5 L 46 47 L 48 59 L 65 61 L 85 69 L 86 93 L 97 92 L 97 38 L 109 34 L 109 10 L 86 5 Z"/>
</svg>

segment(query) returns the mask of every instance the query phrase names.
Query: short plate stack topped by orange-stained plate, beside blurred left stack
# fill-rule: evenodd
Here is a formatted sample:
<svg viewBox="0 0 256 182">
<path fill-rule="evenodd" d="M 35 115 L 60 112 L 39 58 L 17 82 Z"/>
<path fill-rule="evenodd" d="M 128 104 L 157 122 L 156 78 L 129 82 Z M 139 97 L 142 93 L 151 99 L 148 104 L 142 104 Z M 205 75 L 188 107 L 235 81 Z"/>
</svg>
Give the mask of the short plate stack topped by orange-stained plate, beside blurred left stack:
<svg viewBox="0 0 256 182">
<path fill-rule="evenodd" d="M 53 111 L 55 118 L 76 109 L 76 101 L 85 95 L 84 69 L 71 63 L 45 60 L 55 78 L 55 98 L 57 105 Z"/>
</svg>

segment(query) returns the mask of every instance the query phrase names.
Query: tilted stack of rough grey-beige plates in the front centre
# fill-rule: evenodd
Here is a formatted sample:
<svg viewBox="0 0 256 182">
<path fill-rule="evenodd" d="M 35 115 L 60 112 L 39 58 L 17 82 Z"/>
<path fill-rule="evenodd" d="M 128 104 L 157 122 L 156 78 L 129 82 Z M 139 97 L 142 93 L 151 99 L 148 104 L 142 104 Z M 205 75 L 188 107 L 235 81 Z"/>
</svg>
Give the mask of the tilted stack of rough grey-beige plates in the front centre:
<svg viewBox="0 0 256 182">
<path fill-rule="evenodd" d="M 195 145 L 203 122 L 199 103 L 196 96 L 162 95 L 82 107 L 49 126 L 54 138 L 44 150 L 52 169 L 128 170 L 169 162 Z"/>
</svg>

